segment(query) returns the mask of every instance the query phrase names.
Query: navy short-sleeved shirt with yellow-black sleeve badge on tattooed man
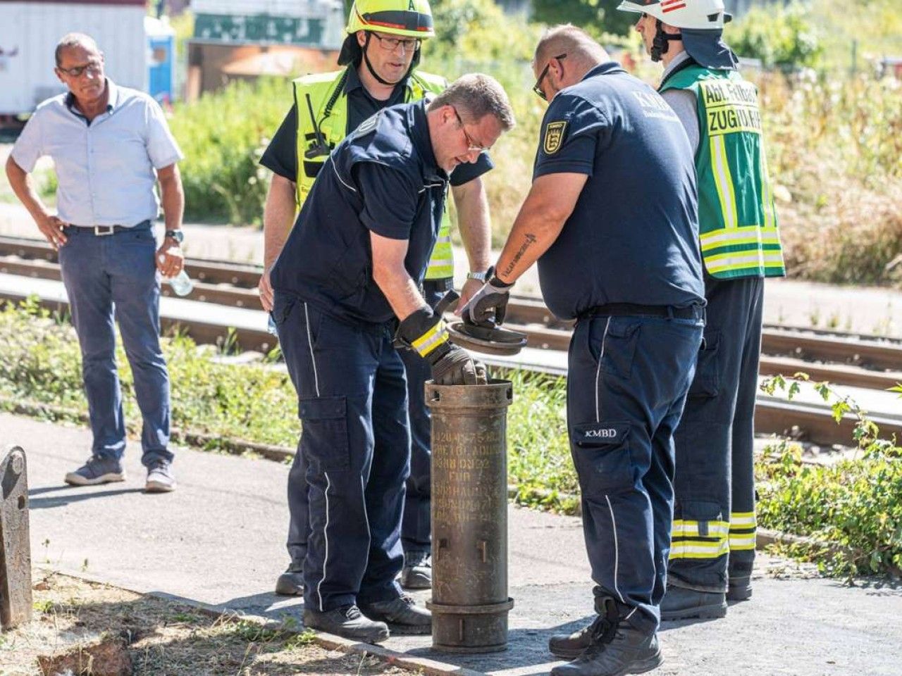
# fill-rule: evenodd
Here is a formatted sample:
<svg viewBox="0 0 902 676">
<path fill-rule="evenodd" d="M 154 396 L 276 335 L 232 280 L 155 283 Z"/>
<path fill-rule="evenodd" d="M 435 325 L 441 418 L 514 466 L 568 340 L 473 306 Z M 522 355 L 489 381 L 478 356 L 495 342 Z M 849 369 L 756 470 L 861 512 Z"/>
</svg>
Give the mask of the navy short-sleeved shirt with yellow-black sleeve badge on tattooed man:
<svg viewBox="0 0 902 676">
<path fill-rule="evenodd" d="M 609 303 L 704 304 L 693 151 L 654 89 L 608 62 L 559 92 L 542 121 L 533 180 L 554 173 L 589 177 L 538 260 L 555 315 Z"/>
</svg>

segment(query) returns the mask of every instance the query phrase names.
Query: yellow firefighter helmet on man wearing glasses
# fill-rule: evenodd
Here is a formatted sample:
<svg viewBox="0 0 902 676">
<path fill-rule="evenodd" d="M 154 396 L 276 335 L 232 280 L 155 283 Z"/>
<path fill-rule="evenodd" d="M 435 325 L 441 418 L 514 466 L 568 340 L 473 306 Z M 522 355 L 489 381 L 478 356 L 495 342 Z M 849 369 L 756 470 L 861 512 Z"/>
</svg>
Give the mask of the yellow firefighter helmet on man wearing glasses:
<svg viewBox="0 0 902 676">
<path fill-rule="evenodd" d="M 436 36 L 428 0 L 354 0 L 347 17 L 347 37 L 338 57 L 339 64 L 359 59 L 360 47 L 354 37 L 357 31 L 388 33 L 419 40 Z"/>
</svg>

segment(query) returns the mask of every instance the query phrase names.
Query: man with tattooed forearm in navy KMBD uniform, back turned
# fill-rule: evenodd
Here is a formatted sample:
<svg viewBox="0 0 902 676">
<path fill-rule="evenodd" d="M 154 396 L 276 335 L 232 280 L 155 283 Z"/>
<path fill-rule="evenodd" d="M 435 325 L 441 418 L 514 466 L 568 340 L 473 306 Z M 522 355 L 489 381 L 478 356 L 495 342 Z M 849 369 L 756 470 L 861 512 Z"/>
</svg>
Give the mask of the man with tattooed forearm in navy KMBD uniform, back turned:
<svg viewBox="0 0 902 676">
<path fill-rule="evenodd" d="M 497 324 L 538 260 L 542 297 L 575 318 L 567 428 L 598 617 L 556 635 L 552 676 L 661 663 L 673 432 L 704 326 L 692 151 L 676 114 L 585 32 L 549 29 L 533 59 L 542 121 L 533 182 L 492 278 L 461 308 Z"/>
</svg>

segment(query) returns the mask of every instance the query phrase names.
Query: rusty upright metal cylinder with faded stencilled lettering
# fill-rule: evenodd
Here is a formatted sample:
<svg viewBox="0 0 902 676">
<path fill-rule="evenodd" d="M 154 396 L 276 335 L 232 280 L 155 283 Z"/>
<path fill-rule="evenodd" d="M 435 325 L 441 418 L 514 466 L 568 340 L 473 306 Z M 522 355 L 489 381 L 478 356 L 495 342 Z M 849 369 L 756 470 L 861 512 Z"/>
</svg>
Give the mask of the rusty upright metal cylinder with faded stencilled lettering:
<svg viewBox="0 0 902 676">
<path fill-rule="evenodd" d="M 507 648 L 507 380 L 426 384 L 432 412 L 432 647 Z"/>
</svg>

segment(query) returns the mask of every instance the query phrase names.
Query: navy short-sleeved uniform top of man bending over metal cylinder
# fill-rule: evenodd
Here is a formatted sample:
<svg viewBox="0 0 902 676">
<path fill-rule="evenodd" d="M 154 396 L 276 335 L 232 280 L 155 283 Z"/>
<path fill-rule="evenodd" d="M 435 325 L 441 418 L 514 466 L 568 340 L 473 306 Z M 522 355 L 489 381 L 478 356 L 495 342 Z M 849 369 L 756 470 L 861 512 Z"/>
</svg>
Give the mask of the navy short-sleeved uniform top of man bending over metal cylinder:
<svg viewBox="0 0 902 676">
<path fill-rule="evenodd" d="M 326 160 L 272 268 L 272 288 L 346 322 L 390 320 L 394 313 L 373 280 L 370 232 L 408 241 L 404 267 L 419 283 L 447 186 L 425 102 L 383 108 Z"/>
</svg>

